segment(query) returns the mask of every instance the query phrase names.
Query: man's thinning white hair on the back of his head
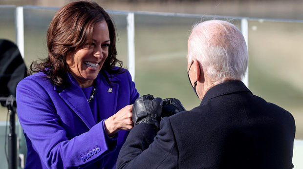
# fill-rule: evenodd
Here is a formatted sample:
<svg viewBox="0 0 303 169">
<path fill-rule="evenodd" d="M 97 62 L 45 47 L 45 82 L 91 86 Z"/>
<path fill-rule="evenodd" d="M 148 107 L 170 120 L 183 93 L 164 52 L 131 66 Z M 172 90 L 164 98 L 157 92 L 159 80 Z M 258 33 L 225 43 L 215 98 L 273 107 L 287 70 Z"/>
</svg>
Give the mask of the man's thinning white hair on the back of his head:
<svg viewBox="0 0 303 169">
<path fill-rule="evenodd" d="M 227 21 L 195 24 L 188 42 L 188 61 L 195 58 L 212 80 L 241 80 L 248 64 L 247 46 L 239 29 Z M 201 67 L 202 68 L 202 67 Z"/>
</svg>

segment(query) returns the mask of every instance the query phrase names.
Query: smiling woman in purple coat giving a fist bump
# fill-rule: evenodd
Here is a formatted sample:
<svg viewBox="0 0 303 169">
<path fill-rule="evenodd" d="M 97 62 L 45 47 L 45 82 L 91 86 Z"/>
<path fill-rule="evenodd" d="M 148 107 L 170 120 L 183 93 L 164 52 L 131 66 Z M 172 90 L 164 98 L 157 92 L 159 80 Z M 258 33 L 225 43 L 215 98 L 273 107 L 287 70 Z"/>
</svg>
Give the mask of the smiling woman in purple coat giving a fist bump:
<svg viewBox="0 0 303 169">
<path fill-rule="evenodd" d="M 97 3 L 69 3 L 51 21 L 47 47 L 17 86 L 25 168 L 115 168 L 139 93 L 116 58 L 113 22 Z"/>
</svg>

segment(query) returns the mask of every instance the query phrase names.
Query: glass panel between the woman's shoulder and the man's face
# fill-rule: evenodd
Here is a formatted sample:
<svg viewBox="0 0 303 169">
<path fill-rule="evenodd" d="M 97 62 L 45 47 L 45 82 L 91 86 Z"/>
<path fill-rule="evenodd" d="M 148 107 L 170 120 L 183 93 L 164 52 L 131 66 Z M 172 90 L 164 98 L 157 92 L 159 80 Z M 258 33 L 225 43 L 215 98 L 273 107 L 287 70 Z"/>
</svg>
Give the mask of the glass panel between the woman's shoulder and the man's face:
<svg viewBox="0 0 303 169">
<path fill-rule="evenodd" d="M 188 110 L 200 104 L 187 76 L 187 41 L 192 25 L 209 19 L 135 14 L 135 83 L 141 96 L 174 97 Z"/>
</svg>

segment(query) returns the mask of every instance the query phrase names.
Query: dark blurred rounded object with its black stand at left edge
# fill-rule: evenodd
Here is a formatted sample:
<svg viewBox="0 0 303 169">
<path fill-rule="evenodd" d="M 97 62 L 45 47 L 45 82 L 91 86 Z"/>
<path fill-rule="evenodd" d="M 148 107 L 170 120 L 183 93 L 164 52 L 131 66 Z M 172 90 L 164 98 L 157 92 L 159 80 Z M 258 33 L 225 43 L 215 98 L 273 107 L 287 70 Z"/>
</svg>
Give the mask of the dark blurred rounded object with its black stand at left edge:
<svg viewBox="0 0 303 169">
<path fill-rule="evenodd" d="M 8 168 L 17 169 L 17 135 L 15 129 L 16 87 L 26 77 L 26 66 L 17 45 L 0 39 L 0 102 L 9 113 Z M 6 140 L 5 140 L 6 141 Z"/>
</svg>

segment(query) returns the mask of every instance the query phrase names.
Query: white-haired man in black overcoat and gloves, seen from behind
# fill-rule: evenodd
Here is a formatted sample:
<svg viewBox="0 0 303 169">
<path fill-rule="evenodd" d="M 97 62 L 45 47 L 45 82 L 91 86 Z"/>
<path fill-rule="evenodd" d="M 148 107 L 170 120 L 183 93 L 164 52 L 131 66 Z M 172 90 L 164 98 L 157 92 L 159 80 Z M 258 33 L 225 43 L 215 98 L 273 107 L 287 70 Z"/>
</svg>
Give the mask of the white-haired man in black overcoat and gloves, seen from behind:
<svg viewBox="0 0 303 169">
<path fill-rule="evenodd" d="M 176 100 L 137 99 L 135 126 L 117 168 L 292 169 L 294 118 L 240 81 L 247 60 L 236 26 L 218 20 L 196 24 L 188 40 L 188 76 L 200 106 L 169 116 L 161 107 L 179 108 Z"/>
</svg>

